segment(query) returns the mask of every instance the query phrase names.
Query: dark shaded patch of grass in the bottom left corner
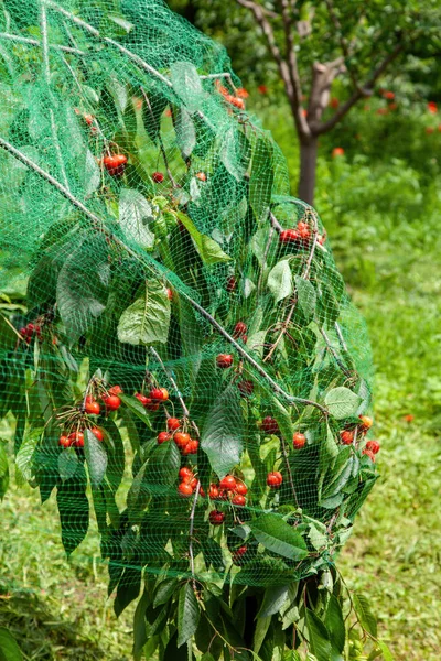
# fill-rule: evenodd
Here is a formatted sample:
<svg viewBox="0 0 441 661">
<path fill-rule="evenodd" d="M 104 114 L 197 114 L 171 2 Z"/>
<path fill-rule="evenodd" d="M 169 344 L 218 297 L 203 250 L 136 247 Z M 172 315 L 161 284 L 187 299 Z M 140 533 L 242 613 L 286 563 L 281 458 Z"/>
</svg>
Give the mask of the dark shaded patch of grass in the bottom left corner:
<svg viewBox="0 0 441 661">
<path fill-rule="evenodd" d="M 0 627 L 15 638 L 25 661 L 120 661 L 120 657 L 110 659 L 96 642 L 78 633 L 75 624 L 25 590 L 8 593 L 0 585 Z"/>
</svg>

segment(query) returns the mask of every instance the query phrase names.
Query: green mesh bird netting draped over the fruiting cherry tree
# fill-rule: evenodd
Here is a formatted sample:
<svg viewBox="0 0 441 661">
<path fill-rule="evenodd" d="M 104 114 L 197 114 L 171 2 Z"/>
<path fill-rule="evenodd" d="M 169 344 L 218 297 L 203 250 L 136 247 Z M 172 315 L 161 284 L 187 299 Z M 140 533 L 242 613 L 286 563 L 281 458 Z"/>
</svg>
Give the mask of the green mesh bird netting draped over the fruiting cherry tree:
<svg viewBox="0 0 441 661">
<path fill-rule="evenodd" d="M 378 446 L 365 324 L 316 212 L 225 51 L 161 1 L 0 8 L 18 473 L 56 499 L 68 554 L 96 519 L 119 610 L 143 577 L 161 604 L 180 579 L 320 574 Z"/>
</svg>

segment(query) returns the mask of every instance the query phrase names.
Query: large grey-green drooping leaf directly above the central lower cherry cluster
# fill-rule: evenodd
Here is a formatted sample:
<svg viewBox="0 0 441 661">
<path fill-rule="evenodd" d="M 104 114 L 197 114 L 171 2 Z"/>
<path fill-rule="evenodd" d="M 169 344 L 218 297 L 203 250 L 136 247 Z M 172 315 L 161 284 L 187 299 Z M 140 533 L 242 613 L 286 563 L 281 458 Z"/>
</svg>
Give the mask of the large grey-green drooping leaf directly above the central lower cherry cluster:
<svg viewBox="0 0 441 661">
<path fill-rule="evenodd" d="M 240 462 L 243 425 L 240 393 L 232 383 L 216 398 L 201 434 L 201 447 L 219 478 Z"/>
</svg>

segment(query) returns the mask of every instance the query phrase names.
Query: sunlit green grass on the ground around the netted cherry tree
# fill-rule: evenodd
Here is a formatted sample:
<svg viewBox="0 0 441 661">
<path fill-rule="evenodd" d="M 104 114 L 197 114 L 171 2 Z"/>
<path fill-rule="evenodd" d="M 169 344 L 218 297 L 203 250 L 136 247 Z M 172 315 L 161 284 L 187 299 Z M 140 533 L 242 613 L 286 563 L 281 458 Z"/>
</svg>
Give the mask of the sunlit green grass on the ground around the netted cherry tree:
<svg viewBox="0 0 441 661">
<path fill-rule="evenodd" d="M 272 113 L 265 123 L 273 124 L 295 167 L 287 122 Z M 319 210 L 369 327 L 381 442 L 381 479 L 340 567 L 351 587 L 369 597 L 397 661 L 438 661 L 440 182 L 423 188 L 418 171 L 402 161 L 374 164 L 363 156 L 352 164 L 321 160 L 319 177 Z M 11 627 L 25 659 L 130 659 L 131 611 L 119 620 L 112 615 L 96 535 L 67 563 L 54 503 L 41 508 L 36 492 L 12 487 L 1 510 L 0 626 Z"/>
</svg>

